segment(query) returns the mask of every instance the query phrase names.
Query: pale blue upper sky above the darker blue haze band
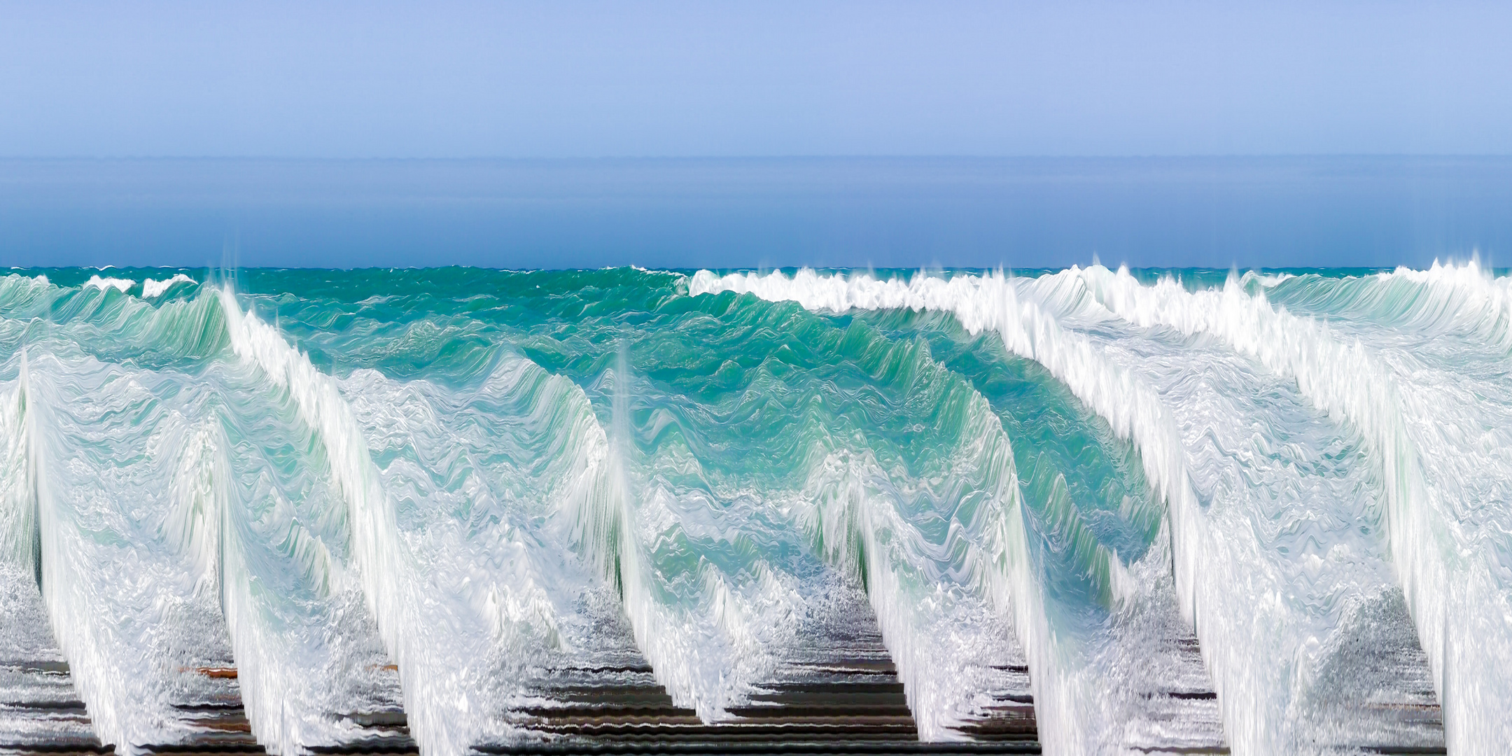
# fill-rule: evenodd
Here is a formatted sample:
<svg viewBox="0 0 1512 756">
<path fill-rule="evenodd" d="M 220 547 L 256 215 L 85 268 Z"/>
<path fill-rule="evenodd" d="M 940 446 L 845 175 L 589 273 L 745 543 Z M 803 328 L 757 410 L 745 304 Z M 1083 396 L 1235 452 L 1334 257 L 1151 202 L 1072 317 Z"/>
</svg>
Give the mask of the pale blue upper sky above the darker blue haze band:
<svg viewBox="0 0 1512 756">
<path fill-rule="evenodd" d="M 0 3 L 0 156 L 1512 154 L 1512 3 Z"/>
</svg>

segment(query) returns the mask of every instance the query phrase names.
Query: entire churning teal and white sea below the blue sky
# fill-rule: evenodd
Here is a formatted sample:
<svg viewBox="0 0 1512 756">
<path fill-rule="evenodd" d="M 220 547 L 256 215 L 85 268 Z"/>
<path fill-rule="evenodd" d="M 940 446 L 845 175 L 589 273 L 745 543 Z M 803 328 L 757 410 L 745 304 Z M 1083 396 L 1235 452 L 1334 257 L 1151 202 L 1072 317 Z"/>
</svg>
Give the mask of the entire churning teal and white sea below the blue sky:
<svg viewBox="0 0 1512 756">
<path fill-rule="evenodd" d="M 17 272 L 0 748 L 1504 753 L 1506 281 Z"/>
</svg>

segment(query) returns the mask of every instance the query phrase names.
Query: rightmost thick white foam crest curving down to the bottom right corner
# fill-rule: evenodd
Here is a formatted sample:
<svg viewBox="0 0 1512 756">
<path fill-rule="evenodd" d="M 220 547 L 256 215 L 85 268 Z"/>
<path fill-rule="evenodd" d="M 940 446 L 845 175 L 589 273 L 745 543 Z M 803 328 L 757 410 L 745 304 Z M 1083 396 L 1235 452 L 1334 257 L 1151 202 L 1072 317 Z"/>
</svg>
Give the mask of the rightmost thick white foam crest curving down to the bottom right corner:
<svg viewBox="0 0 1512 756">
<path fill-rule="evenodd" d="M 1507 438 L 1501 434 L 1467 437 L 1467 431 L 1486 422 L 1491 423 L 1486 428 L 1501 426 L 1503 420 L 1477 411 L 1491 408 L 1488 395 L 1459 390 L 1462 376 L 1426 370 L 1408 345 L 1406 351 L 1394 352 L 1391 346 L 1367 348 L 1359 340 L 1370 333 L 1390 334 L 1390 328 L 1373 324 L 1368 331 L 1344 339 L 1335 327 L 1273 308 L 1263 293 L 1247 295 L 1232 278 L 1222 290 L 1191 293 L 1170 280 L 1142 286 L 1126 271 L 1093 268 L 1080 277 L 1119 316 L 1187 334 L 1214 334 L 1276 373 L 1294 378 L 1317 407 L 1361 429 L 1380 464 L 1393 561 L 1432 661 L 1450 750 L 1512 748 L 1512 721 L 1503 715 L 1512 700 L 1503 676 L 1512 668 L 1512 599 L 1507 582 L 1497 576 L 1504 569 L 1476 546 L 1489 531 L 1467 529 L 1468 523 L 1455 514 L 1461 502 L 1474 503 L 1489 493 L 1465 490 L 1456 481 L 1488 473 L 1500 478 L 1501 470 L 1512 469 Z M 1429 271 L 1399 269 L 1373 280 L 1380 289 L 1362 292 L 1358 305 L 1367 313 L 1396 316 L 1396 328 L 1433 336 L 1468 331 L 1497 349 L 1506 348 L 1509 299 L 1476 263 L 1462 268 L 1435 263 Z M 1420 284 L 1426 289 L 1423 298 L 1393 301 L 1391 293 L 1402 295 L 1397 281 Z M 1388 336 L 1387 343 L 1393 339 Z M 1485 390 L 1504 393 L 1504 387 L 1489 383 Z M 1424 458 L 1432 467 L 1424 467 Z M 1429 470 L 1438 485 L 1429 482 Z M 1506 522 L 1504 508 L 1498 514 L 1483 513 L 1480 517 Z"/>
</svg>

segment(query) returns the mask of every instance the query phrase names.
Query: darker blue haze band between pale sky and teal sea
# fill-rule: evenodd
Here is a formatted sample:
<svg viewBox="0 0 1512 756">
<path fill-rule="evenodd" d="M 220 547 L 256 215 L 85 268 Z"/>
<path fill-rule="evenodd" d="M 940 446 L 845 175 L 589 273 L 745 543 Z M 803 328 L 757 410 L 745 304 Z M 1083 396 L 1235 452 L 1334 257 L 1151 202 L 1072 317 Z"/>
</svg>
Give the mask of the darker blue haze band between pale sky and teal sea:
<svg viewBox="0 0 1512 756">
<path fill-rule="evenodd" d="M 0 265 L 1424 266 L 1512 157 L 0 160 Z"/>
</svg>

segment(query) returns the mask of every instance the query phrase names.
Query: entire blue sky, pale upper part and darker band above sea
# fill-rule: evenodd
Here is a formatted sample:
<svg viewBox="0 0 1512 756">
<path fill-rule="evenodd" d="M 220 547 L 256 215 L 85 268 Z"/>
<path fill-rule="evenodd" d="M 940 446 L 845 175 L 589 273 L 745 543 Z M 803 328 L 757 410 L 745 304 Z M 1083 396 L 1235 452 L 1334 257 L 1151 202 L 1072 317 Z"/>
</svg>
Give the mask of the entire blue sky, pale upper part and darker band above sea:
<svg viewBox="0 0 1512 756">
<path fill-rule="evenodd" d="M 0 2 L 0 266 L 1506 262 L 1509 39 L 1512 3 Z"/>
</svg>

